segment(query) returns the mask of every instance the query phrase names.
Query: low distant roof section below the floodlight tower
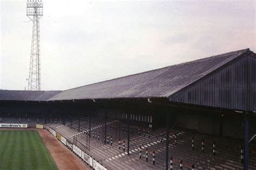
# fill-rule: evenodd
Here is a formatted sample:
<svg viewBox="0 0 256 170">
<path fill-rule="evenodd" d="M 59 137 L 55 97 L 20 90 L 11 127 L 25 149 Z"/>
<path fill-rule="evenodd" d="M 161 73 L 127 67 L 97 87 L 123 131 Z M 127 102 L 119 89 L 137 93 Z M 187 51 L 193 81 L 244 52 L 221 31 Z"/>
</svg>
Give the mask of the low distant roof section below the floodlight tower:
<svg viewBox="0 0 256 170">
<path fill-rule="evenodd" d="M 0 101 L 46 101 L 62 91 L 0 90 Z"/>
</svg>

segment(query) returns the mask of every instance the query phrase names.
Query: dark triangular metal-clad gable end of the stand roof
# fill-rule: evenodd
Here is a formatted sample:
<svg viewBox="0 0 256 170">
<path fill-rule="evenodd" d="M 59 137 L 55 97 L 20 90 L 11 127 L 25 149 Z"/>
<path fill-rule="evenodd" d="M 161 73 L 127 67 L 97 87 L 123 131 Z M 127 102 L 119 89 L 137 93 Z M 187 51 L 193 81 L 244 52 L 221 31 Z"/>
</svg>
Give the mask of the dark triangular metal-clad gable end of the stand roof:
<svg viewBox="0 0 256 170">
<path fill-rule="evenodd" d="M 256 110 L 256 55 L 247 51 L 213 73 L 170 96 L 170 101 Z"/>
</svg>

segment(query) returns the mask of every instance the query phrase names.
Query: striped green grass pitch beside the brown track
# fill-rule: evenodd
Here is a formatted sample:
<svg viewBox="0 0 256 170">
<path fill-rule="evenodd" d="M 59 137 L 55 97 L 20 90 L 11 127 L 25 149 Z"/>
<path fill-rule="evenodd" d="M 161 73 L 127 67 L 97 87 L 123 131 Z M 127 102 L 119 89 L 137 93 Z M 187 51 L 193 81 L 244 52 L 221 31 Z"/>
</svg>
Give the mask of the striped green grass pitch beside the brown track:
<svg viewBox="0 0 256 170">
<path fill-rule="evenodd" d="M 0 170 L 58 169 L 37 131 L 0 131 Z"/>
</svg>

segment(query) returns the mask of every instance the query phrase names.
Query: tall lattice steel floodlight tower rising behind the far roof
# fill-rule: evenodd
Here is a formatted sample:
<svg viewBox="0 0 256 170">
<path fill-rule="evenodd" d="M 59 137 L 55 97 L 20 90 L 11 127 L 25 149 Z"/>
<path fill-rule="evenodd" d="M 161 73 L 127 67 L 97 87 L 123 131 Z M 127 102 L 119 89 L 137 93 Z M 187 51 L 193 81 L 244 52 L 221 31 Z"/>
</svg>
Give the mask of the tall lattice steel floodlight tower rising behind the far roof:
<svg viewBox="0 0 256 170">
<path fill-rule="evenodd" d="M 26 16 L 33 22 L 28 90 L 41 90 L 39 19 L 43 16 L 42 0 L 28 0 Z"/>
</svg>

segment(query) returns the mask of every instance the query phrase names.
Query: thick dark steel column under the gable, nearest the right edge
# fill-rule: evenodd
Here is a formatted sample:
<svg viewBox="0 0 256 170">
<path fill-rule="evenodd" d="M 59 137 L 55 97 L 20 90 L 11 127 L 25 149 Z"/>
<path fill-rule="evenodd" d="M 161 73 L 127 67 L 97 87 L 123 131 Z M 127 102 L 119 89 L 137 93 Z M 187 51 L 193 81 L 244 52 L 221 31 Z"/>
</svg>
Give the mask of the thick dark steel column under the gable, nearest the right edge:
<svg viewBox="0 0 256 170">
<path fill-rule="evenodd" d="M 249 120 L 248 112 L 244 113 L 244 170 L 249 168 Z"/>
</svg>

